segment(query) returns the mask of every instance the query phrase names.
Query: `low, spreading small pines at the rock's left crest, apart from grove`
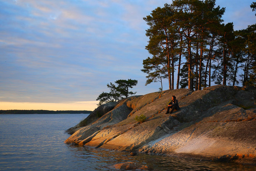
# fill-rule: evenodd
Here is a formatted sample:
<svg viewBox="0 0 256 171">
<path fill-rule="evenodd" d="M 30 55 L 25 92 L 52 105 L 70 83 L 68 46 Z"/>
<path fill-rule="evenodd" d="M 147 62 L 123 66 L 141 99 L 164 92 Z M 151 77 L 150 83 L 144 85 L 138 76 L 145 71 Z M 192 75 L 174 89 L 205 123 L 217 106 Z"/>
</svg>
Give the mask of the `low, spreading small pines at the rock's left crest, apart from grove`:
<svg viewBox="0 0 256 171">
<path fill-rule="evenodd" d="M 124 97 L 128 97 L 129 95 L 137 93 L 129 91 L 129 88 L 132 88 L 133 86 L 137 85 L 137 80 L 116 80 L 115 83 L 117 84 L 117 86 L 113 83 L 107 84 L 107 87 L 110 89 L 110 92 L 102 92 L 98 96 L 98 98 L 96 98 L 96 100 L 99 100 L 98 106 L 113 101 L 119 101 Z"/>
</svg>

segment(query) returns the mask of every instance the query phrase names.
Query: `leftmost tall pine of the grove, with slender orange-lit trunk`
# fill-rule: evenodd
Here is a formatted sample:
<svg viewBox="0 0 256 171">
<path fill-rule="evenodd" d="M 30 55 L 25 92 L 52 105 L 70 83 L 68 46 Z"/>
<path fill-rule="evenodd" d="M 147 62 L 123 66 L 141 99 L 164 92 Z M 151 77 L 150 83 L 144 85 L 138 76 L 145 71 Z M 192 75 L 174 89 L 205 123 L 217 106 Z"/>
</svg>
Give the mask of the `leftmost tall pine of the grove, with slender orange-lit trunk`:
<svg viewBox="0 0 256 171">
<path fill-rule="evenodd" d="M 165 4 L 163 8 L 158 7 L 152 11 L 151 15 L 143 18 L 150 26 L 146 30 L 146 36 L 150 39 L 146 49 L 152 54 L 152 58 L 148 57 L 143 61 L 144 69 L 142 71 L 149 74 L 148 78 L 155 76 L 155 73 L 166 72 L 169 89 L 174 89 L 174 63 L 177 60 L 175 50 L 178 45 L 177 40 L 179 40 L 176 34 L 177 30 L 173 26 L 173 14 L 171 6 Z"/>
</svg>

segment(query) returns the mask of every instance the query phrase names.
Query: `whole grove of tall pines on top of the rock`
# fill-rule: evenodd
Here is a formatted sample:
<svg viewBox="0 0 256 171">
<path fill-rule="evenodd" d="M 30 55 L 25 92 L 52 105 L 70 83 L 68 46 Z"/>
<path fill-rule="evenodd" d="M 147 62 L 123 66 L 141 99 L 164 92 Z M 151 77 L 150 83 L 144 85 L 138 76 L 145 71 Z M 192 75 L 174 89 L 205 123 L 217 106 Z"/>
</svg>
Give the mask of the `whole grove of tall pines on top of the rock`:
<svg viewBox="0 0 256 171">
<path fill-rule="evenodd" d="M 174 89 L 177 70 L 177 89 L 201 90 L 212 81 L 256 86 L 256 24 L 234 31 L 233 23 L 223 23 L 224 12 L 215 0 L 173 0 L 145 17 L 152 55 L 143 60 L 146 85 L 168 78 Z"/>
</svg>

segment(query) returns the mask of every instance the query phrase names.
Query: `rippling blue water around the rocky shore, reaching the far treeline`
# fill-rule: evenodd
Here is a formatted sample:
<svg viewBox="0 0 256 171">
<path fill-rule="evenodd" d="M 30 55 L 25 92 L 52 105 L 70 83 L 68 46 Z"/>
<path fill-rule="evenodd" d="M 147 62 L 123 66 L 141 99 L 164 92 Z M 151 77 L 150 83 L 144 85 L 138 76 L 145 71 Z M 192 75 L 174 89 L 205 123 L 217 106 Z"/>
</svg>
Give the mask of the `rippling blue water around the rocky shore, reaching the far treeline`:
<svg viewBox="0 0 256 171">
<path fill-rule="evenodd" d="M 155 171 L 255 171 L 255 166 L 202 162 L 64 144 L 65 130 L 88 114 L 0 115 L 0 170 L 115 171 L 121 162 L 140 162 Z"/>
</svg>

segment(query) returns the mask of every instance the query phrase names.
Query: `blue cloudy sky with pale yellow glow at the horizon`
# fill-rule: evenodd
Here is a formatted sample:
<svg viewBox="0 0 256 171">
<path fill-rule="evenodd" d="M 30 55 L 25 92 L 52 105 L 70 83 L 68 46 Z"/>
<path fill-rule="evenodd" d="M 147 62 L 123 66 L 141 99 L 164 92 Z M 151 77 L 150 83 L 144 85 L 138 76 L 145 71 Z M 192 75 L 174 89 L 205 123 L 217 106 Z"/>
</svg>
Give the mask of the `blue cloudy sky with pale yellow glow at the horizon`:
<svg viewBox="0 0 256 171">
<path fill-rule="evenodd" d="M 148 29 L 143 17 L 171 0 L 0 0 L 0 110 L 94 110 L 106 84 L 138 80 Z M 256 23 L 252 0 L 216 0 L 234 30 Z M 163 89 L 168 89 L 167 80 Z"/>
</svg>

